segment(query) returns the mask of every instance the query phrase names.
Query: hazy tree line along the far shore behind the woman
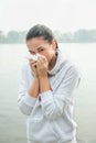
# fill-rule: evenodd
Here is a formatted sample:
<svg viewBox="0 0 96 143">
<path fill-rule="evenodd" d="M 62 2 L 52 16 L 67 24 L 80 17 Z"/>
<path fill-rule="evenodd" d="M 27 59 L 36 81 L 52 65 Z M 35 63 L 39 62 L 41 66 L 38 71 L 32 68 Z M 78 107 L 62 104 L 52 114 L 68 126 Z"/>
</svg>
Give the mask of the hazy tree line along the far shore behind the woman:
<svg viewBox="0 0 96 143">
<path fill-rule="evenodd" d="M 96 30 L 78 30 L 74 33 L 54 31 L 55 38 L 60 43 L 94 43 L 96 42 Z M 0 44 L 25 43 L 26 31 L 9 31 L 3 34 L 0 31 Z"/>
</svg>

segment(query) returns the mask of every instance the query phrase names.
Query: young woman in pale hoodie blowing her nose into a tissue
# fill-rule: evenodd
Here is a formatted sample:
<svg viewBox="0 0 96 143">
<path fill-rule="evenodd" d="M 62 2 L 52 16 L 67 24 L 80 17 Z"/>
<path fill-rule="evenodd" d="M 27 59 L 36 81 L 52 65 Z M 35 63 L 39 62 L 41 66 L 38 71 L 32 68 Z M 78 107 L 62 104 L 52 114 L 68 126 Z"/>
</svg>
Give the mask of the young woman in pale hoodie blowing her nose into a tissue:
<svg viewBox="0 0 96 143">
<path fill-rule="evenodd" d="M 29 59 L 21 73 L 19 108 L 29 116 L 29 143 L 76 143 L 73 91 L 78 70 L 58 50 L 52 31 L 41 24 L 26 34 L 26 46 L 38 61 Z"/>
</svg>

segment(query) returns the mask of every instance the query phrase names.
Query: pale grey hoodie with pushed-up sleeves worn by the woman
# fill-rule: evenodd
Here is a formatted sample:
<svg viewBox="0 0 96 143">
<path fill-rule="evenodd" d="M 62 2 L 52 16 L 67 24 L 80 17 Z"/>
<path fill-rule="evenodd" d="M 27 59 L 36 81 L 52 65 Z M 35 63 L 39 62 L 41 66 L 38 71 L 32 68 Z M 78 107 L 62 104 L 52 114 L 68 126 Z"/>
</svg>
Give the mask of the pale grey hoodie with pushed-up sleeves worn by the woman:
<svg viewBox="0 0 96 143">
<path fill-rule="evenodd" d="M 79 74 L 60 50 L 57 53 L 56 64 L 49 70 L 51 90 L 40 94 L 39 98 L 28 94 L 34 79 L 30 65 L 25 64 L 21 72 L 18 105 L 22 113 L 29 116 L 29 143 L 76 143 L 76 123 L 72 116 Z"/>
</svg>

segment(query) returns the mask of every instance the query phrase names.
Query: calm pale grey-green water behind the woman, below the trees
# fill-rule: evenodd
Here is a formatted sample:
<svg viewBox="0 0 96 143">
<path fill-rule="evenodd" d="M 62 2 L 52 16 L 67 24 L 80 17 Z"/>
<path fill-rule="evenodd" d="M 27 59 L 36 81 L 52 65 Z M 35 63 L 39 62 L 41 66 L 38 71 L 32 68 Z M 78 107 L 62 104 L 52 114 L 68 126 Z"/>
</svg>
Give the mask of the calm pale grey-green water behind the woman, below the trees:
<svg viewBox="0 0 96 143">
<path fill-rule="evenodd" d="M 77 141 L 96 143 L 96 44 L 60 44 L 60 48 L 77 64 L 82 77 L 74 106 Z M 0 143 L 26 143 L 26 117 L 17 105 L 19 75 L 26 52 L 24 44 L 0 45 Z"/>
</svg>

